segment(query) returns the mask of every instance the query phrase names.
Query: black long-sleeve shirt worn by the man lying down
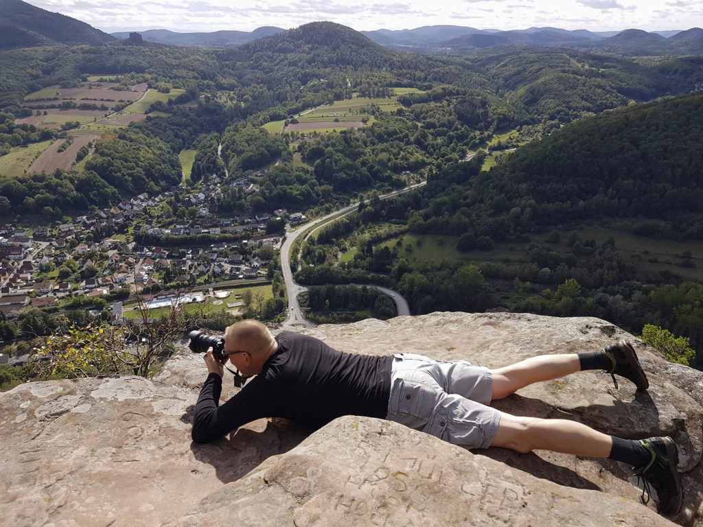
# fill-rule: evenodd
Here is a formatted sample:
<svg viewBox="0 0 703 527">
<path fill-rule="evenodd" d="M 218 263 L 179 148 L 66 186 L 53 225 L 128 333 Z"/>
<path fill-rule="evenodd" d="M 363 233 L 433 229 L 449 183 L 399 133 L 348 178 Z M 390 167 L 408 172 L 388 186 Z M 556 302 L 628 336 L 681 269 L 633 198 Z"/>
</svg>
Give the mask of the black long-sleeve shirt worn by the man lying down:
<svg viewBox="0 0 703 527">
<path fill-rule="evenodd" d="M 261 417 L 285 417 L 320 427 L 342 415 L 385 418 L 393 356 L 352 355 L 292 332 L 262 372 L 219 406 L 222 378 L 207 376 L 193 418 L 193 441 L 205 443 Z"/>
</svg>

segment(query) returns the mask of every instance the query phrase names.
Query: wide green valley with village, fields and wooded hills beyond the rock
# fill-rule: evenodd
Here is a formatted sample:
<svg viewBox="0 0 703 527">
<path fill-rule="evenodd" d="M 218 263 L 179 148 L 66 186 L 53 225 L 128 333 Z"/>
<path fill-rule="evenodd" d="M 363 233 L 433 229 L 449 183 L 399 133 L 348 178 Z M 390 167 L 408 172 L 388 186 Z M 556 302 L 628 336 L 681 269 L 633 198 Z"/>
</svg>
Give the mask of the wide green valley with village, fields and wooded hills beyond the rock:
<svg viewBox="0 0 703 527">
<path fill-rule="evenodd" d="M 232 48 L 2 51 L 4 349 L 124 322 L 115 304 L 154 323 L 168 310 L 137 297 L 180 292 L 212 330 L 406 299 L 654 324 L 703 349 L 699 56 L 465 44 L 411 53 L 312 22 Z"/>
</svg>

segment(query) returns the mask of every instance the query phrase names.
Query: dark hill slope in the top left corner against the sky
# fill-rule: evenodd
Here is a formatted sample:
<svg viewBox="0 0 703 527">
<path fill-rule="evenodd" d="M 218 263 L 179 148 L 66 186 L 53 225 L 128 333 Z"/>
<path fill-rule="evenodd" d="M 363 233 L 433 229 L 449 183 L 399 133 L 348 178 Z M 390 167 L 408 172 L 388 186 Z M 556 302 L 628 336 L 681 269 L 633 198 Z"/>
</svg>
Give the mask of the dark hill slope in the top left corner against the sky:
<svg viewBox="0 0 703 527">
<path fill-rule="evenodd" d="M 0 0 L 0 49 L 51 44 L 105 44 L 115 37 L 85 22 L 22 0 Z"/>
</svg>

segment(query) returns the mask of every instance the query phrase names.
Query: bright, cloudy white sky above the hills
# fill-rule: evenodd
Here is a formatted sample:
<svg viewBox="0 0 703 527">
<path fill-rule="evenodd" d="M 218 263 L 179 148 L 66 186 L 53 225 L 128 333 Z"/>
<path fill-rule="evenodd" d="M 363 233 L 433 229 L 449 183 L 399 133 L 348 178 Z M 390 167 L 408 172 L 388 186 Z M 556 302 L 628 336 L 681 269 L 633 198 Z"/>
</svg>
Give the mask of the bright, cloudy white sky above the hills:
<svg viewBox="0 0 703 527">
<path fill-rule="evenodd" d="M 330 20 L 357 31 L 458 25 L 479 30 L 645 31 L 703 27 L 702 0 L 30 0 L 105 32 L 290 29 Z"/>
</svg>

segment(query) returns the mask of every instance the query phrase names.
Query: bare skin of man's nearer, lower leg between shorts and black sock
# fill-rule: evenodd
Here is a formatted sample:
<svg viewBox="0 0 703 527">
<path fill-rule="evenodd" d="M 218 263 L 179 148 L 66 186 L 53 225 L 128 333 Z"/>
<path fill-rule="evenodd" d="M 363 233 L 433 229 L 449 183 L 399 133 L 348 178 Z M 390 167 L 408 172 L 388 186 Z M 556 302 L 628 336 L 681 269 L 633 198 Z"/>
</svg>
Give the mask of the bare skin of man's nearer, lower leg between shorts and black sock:
<svg viewBox="0 0 703 527">
<path fill-rule="evenodd" d="M 501 422 L 491 446 L 522 453 L 552 450 L 588 457 L 608 457 L 612 438 L 568 419 L 519 417 L 501 412 Z"/>
</svg>

